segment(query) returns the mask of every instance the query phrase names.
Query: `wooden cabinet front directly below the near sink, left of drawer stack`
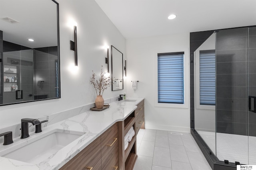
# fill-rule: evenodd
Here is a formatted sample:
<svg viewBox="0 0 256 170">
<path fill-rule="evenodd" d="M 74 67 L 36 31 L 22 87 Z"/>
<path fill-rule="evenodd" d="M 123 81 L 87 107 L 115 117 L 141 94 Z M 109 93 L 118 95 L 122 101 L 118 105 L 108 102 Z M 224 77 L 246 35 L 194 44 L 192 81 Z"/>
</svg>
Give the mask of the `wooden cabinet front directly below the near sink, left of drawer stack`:
<svg viewBox="0 0 256 170">
<path fill-rule="evenodd" d="M 68 161 L 60 170 L 92 170 L 101 169 L 101 137 L 95 139 L 90 145 Z M 86 169 L 87 168 L 87 169 Z"/>
</svg>

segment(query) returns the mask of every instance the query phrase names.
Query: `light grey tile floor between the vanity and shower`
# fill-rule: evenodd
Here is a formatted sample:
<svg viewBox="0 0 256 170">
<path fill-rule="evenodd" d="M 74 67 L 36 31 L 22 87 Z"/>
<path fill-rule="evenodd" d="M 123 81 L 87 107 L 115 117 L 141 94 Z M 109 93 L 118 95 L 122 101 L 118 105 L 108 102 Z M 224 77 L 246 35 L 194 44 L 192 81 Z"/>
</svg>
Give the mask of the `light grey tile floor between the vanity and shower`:
<svg viewBox="0 0 256 170">
<path fill-rule="evenodd" d="M 190 133 L 140 129 L 137 150 L 133 170 L 212 170 Z"/>
</svg>

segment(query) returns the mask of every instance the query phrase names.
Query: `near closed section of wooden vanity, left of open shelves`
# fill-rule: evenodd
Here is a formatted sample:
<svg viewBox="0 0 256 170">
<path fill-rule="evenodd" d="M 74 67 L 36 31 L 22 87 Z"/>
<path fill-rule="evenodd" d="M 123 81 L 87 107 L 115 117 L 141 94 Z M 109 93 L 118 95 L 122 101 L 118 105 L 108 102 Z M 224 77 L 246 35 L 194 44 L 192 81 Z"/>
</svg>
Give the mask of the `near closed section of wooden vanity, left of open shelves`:
<svg viewBox="0 0 256 170">
<path fill-rule="evenodd" d="M 118 170 L 118 126 L 112 125 L 60 170 Z"/>
</svg>

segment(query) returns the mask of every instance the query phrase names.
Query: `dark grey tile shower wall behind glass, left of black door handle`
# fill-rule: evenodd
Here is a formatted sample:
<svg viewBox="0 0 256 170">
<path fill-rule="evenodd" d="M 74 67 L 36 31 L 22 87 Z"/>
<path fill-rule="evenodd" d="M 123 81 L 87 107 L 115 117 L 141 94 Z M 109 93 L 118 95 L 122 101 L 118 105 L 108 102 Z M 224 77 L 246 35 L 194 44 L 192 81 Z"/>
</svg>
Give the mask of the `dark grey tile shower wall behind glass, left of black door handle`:
<svg viewBox="0 0 256 170">
<path fill-rule="evenodd" d="M 248 135 L 248 28 L 216 33 L 216 129 Z"/>
</svg>

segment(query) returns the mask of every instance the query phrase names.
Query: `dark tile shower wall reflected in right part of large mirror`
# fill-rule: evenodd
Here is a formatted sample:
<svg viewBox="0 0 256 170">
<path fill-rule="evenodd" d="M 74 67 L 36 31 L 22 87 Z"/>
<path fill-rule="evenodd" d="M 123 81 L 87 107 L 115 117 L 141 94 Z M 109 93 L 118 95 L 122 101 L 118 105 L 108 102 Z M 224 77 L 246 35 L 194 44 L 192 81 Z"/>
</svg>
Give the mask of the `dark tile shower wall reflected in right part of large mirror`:
<svg viewBox="0 0 256 170">
<path fill-rule="evenodd" d="M 56 62 L 58 60 L 58 48 L 44 47 L 34 51 L 34 87 L 35 97 L 56 98 L 57 77 Z M 38 79 L 40 78 L 40 80 Z"/>
</svg>

